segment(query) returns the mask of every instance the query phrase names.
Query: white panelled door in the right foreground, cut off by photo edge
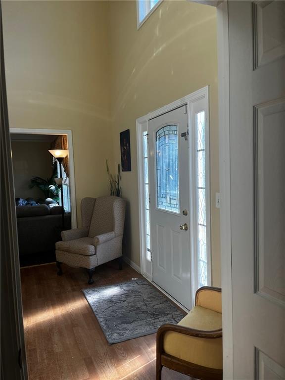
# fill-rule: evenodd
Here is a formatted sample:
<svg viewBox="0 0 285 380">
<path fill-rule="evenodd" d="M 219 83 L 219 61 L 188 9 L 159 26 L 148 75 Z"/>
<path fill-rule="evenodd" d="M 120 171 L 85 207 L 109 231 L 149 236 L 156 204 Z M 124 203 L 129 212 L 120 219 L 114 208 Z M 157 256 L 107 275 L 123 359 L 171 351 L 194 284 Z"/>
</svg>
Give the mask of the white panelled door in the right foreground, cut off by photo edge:
<svg viewBox="0 0 285 380">
<path fill-rule="evenodd" d="M 234 379 L 285 379 L 285 1 L 229 1 Z"/>
</svg>

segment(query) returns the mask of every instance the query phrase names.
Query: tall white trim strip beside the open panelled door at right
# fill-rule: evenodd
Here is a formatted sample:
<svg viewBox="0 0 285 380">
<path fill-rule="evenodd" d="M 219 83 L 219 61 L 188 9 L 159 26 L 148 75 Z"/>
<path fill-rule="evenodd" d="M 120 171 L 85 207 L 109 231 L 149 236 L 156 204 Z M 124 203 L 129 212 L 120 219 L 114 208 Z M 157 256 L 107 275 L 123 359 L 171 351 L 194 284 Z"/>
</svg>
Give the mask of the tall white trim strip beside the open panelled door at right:
<svg viewBox="0 0 285 380">
<path fill-rule="evenodd" d="M 223 318 L 223 379 L 233 379 L 233 299 L 231 246 L 231 176 L 230 176 L 230 78 L 228 2 L 217 7 L 219 150 L 220 150 L 220 223 L 221 278 Z"/>
</svg>

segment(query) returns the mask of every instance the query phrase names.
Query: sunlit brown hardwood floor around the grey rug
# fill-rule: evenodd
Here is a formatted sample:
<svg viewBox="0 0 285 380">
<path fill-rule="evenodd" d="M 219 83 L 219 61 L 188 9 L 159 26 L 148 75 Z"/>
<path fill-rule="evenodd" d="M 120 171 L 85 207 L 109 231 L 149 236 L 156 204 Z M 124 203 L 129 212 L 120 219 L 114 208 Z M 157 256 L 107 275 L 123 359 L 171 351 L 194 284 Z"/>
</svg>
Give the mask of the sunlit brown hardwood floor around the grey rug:
<svg viewBox="0 0 285 380">
<path fill-rule="evenodd" d="M 117 262 L 96 269 L 94 285 L 82 269 L 55 264 L 22 268 L 29 380 L 155 380 L 155 334 L 108 345 L 81 289 L 141 277 Z M 166 368 L 163 380 L 186 380 Z"/>
</svg>

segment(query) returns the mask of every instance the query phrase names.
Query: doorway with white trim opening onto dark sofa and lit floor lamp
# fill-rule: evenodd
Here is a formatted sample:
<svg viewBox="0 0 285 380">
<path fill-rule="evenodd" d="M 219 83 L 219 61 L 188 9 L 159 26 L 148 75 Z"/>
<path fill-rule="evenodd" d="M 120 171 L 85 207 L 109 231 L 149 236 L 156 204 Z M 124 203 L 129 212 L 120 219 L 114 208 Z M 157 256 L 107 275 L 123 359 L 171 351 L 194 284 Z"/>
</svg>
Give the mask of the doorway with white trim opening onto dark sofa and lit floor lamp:
<svg viewBox="0 0 285 380">
<path fill-rule="evenodd" d="M 10 129 L 21 267 L 54 262 L 61 231 L 76 228 L 71 137 L 71 131 Z M 55 159 L 55 151 L 67 157 Z"/>
</svg>

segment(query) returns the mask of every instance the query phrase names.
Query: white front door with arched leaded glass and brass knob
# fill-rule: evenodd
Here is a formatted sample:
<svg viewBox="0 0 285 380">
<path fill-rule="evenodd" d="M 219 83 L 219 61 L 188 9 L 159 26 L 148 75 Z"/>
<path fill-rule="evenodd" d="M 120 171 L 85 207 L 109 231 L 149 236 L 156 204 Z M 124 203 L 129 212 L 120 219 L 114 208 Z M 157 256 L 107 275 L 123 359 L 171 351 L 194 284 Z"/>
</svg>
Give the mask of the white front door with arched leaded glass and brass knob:
<svg viewBox="0 0 285 380">
<path fill-rule="evenodd" d="M 185 137 L 181 137 L 185 134 Z M 186 105 L 148 122 L 153 282 L 191 307 Z"/>
</svg>

